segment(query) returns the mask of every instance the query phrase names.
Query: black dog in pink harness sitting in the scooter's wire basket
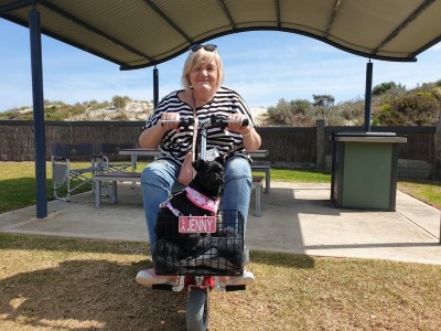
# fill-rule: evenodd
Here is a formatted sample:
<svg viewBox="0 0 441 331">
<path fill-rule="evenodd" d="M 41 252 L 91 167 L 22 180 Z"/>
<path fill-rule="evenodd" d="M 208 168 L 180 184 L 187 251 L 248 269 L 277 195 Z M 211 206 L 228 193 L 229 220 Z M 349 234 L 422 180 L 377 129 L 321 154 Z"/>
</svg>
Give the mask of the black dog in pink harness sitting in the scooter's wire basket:
<svg viewBox="0 0 441 331">
<path fill-rule="evenodd" d="M 180 234 L 179 216 L 215 216 L 224 184 L 224 159 L 193 162 L 195 178 L 183 191 L 161 204 L 157 218 L 154 259 L 168 270 L 184 256 L 192 255 L 204 234 Z"/>
</svg>

